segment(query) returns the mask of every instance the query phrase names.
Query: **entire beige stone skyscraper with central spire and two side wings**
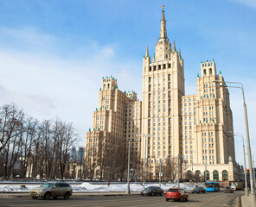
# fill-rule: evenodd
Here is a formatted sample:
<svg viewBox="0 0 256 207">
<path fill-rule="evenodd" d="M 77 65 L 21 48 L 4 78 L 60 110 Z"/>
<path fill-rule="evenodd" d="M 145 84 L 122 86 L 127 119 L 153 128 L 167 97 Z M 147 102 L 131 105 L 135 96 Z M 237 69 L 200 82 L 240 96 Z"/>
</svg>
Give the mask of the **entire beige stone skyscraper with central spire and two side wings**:
<svg viewBox="0 0 256 207">
<path fill-rule="evenodd" d="M 113 139 L 125 142 L 125 148 L 131 141 L 132 154 L 146 160 L 150 179 L 157 179 L 160 161 L 175 158 L 182 161 L 183 173 L 208 180 L 243 179 L 235 162 L 233 115 L 229 92 L 220 86 L 225 85 L 221 71 L 217 74 L 214 60 L 201 62 L 197 93 L 185 95 L 183 61 L 175 41 L 171 46 L 168 39 L 163 10 L 156 54 L 151 59 L 147 47 L 143 59 L 142 101 L 134 91 L 119 91 L 115 78 L 102 78 L 99 107 L 86 133 L 85 158 L 94 165 L 94 177 L 100 170 L 99 141 Z"/>
</svg>

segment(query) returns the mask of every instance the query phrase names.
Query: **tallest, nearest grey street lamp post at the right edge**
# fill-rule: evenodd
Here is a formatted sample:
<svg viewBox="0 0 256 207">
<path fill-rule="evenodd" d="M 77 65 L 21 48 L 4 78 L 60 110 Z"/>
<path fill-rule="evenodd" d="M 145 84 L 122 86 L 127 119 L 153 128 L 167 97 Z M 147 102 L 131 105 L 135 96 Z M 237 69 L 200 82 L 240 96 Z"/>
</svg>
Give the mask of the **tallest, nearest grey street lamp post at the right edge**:
<svg viewBox="0 0 256 207">
<path fill-rule="evenodd" d="M 221 83 L 221 81 L 214 81 L 215 83 Z M 244 116 L 245 116 L 245 122 L 246 122 L 246 141 L 247 141 L 247 154 L 248 154 L 248 164 L 249 164 L 249 170 L 250 170 L 250 185 L 251 185 L 251 206 L 256 206 L 255 201 L 255 190 L 254 190 L 254 182 L 253 182 L 253 164 L 252 164 L 252 153 L 251 153 L 251 145 L 250 145 L 250 136 L 249 136 L 249 126 L 248 126 L 248 117 L 247 117 L 247 110 L 246 110 L 246 100 L 245 100 L 245 94 L 244 94 L 244 87 L 239 82 L 226 82 L 229 84 L 236 84 L 240 86 L 227 86 L 227 85 L 220 85 L 220 87 L 230 87 L 230 88 L 238 88 L 242 90 L 243 95 L 243 106 L 244 106 Z"/>
</svg>

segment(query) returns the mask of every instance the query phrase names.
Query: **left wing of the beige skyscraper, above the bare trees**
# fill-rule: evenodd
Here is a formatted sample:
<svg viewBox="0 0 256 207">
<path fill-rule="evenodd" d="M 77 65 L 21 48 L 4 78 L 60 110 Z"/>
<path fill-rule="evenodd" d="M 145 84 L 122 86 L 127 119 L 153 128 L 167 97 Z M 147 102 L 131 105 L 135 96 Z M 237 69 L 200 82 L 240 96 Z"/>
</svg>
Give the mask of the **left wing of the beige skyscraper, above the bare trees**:
<svg viewBox="0 0 256 207">
<path fill-rule="evenodd" d="M 117 79 L 102 78 L 99 106 L 93 112 L 93 127 L 86 133 L 85 160 L 90 163 L 93 177 L 99 179 L 99 158 L 105 156 L 103 147 L 122 145 L 131 140 L 131 156 L 139 159 L 141 133 L 141 101 L 135 91 L 118 90 Z M 102 172 L 101 172 L 102 173 Z"/>
</svg>

